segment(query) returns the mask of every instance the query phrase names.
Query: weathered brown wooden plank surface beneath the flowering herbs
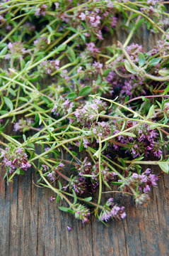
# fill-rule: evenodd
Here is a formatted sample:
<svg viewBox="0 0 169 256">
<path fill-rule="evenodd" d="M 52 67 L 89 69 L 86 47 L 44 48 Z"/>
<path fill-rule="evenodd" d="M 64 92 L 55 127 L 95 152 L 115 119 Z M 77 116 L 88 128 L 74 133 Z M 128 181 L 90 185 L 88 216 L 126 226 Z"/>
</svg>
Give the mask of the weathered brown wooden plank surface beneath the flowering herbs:
<svg viewBox="0 0 169 256">
<path fill-rule="evenodd" d="M 145 50 L 152 48 L 157 36 L 148 37 L 146 29 L 141 35 Z M 110 221 L 107 227 L 94 217 L 82 225 L 58 210 L 57 204 L 49 201 L 54 193 L 33 184 L 37 179 L 34 171 L 14 178 L 8 186 L 3 177 L 4 169 L 0 179 L 1 256 L 169 255 L 168 175 L 160 178 L 158 188 L 153 188 L 146 207 L 136 208 L 130 198 L 111 194 L 117 201 L 124 201 L 127 218 Z M 67 225 L 72 228 L 70 232 Z"/>
</svg>

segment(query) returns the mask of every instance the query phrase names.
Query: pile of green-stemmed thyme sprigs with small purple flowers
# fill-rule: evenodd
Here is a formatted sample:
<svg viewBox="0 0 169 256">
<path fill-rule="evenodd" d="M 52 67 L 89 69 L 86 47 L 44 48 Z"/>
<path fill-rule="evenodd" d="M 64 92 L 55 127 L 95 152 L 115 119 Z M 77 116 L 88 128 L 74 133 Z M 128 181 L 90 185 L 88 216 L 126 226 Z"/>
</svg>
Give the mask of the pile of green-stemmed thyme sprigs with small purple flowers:
<svg viewBox="0 0 169 256">
<path fill-rule="evenodd" d="M 91 213 L 102 222 L 126 217 L 107 191 L 148 201 L 159 176 L 153 166 L 169 171 L 164 4 L 1 1 L 0 157 L 8 182 L 32 168 L 56 193 L 51 201 L 66 201 L 59 209 L 83 223 Z M 143 27 L 161 36 L 148 52 L 132 43 Z M 118 31 L 125 40 L 107 43 Z"/>
</svg>

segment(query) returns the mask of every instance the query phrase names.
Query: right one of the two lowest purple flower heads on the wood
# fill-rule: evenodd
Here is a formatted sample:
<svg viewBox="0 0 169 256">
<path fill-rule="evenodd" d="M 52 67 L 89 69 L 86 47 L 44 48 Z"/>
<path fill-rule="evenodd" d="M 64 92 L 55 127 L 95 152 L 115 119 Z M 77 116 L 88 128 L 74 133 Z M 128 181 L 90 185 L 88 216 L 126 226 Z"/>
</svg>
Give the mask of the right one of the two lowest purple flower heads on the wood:
<svg viewBox="0 0 169 256">
<path fill-rule="evenodd" d="M 100 220 L 107 222 L 112 219 L 121 220 L 126 217 L 126 213 L 124 212 L 124 206 L 120 207 L 116 203 L 114 203 L 113 198 L 109 198 L 105 205 L 103 206 L 103 210 L 100 213 Z"/>
</svg>

